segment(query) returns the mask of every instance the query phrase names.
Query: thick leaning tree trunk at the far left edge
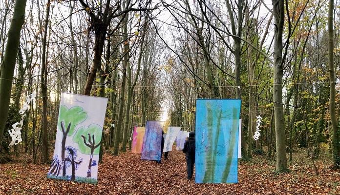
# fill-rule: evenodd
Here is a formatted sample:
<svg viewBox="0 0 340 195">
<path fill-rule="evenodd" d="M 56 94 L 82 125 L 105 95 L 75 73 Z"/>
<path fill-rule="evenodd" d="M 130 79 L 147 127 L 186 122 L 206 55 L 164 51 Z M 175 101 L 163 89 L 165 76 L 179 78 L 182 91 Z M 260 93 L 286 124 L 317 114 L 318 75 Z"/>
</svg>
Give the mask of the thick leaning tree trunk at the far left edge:
<svg viewBox="0 0 340 195">
<path fill-rule="evenodd" d="M 8 117 L 12 80 L 17 59 L 21 27 L 25 19 L 26 0 L 16 0 L 8 30 L 5 55 L 0 67 L 0 143 Z M 1 144 L 0 144 L 1 145 Z"/>
</svg>

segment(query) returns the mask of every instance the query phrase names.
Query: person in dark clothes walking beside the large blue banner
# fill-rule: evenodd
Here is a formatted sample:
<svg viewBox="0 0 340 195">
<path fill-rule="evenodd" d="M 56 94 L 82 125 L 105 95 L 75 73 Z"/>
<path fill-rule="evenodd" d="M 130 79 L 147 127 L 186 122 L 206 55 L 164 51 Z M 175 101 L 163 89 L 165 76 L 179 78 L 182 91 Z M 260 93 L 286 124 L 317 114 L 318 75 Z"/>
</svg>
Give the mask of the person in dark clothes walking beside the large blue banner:
<svg viewBox="0 0 340 195">
<path fill-rule="evenodd" d="M 189 133 L 189 138 L 184 142 L 183 152 L 187 160 L 188 179 L 191 179 L 193 174 L 193 164 L 195 163 L 195 132 Z"/>
</svg>

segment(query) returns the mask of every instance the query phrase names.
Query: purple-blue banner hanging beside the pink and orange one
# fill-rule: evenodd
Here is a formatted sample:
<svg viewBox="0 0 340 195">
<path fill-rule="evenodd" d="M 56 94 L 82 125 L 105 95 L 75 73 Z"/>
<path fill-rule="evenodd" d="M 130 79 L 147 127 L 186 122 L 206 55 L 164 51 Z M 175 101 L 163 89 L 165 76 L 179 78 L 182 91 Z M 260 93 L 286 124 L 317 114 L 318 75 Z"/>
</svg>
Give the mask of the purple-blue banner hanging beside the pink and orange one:
<svg viewBox="0 0 340 195">
<path fill-rule="evenodd" d="M 142 147 L 142 160 L 161 160 L 164 121 L 147 121 Z"/>
</svg>

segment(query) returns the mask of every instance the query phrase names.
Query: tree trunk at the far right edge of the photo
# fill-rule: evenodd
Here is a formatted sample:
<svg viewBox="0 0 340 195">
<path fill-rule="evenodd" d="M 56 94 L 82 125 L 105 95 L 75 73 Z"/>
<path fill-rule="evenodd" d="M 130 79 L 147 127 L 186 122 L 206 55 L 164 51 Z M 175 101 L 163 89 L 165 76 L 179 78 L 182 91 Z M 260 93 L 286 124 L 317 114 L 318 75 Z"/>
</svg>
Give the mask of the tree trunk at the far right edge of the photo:
<svg viewBox="0 0 340 195">
<path fill-rule="evenodd" d="M 334 17 L 334 0 L 329 0 L 328 7 L 328 71 L 330 82 L 330 95 L 329 95 L 329 114 L 332 122 L 333 129 L 333 162 L 334 168 L 340 168 L 340 133 L 338 128 L 338 121 L 336 116 L 335 107 L 335 71 L 334 71 L 334 30 L 333 30 L 333 17 Z"/>
</svg>

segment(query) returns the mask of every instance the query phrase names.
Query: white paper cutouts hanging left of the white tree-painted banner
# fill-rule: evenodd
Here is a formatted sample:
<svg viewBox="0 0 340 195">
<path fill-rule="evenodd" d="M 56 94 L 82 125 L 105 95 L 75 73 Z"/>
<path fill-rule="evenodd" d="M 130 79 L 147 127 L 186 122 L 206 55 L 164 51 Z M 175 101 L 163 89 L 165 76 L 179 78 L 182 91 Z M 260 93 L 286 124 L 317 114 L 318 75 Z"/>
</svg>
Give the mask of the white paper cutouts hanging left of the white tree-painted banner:
<svg viewBox="0 0 340 195">
<path fill-rule="evenodd" d="M 26 96 L 26 102 L 22 105 L 22 108 L 19 111 L 19 114 L 21 114 L 21 120 L 19 122 L 16 122 L 12 125 L 11 130 L 8 130 L 9 135 L 12 138 L 11 143 L 9 143 L 8 148 L 13 146 L 13 145 L 17 145 L 18 143 L 20 143 L 22 141 L 21 139 L 21 129 L 22 129 L 22 125 L 23 125 L 23 119 L 26 117 L 26 114 L 24 114 L 26 112 L 26 110 L 29 107 L 29 104 L 33 101 L 33 99 L 36 97 L 36 93 L 33 92 L 31 95 Z"/>
</svg>

